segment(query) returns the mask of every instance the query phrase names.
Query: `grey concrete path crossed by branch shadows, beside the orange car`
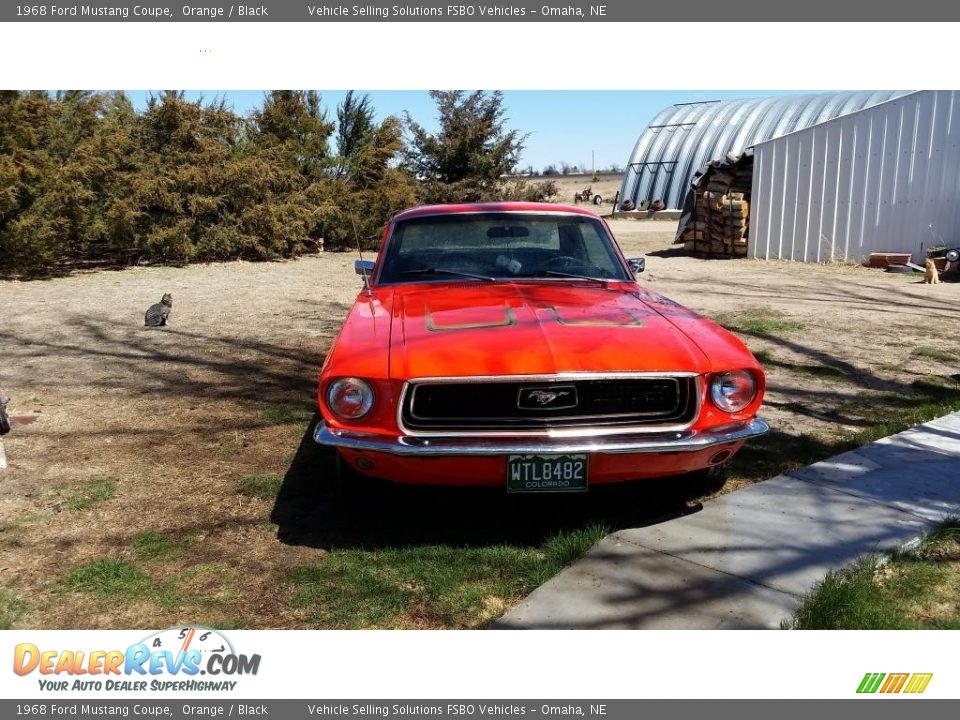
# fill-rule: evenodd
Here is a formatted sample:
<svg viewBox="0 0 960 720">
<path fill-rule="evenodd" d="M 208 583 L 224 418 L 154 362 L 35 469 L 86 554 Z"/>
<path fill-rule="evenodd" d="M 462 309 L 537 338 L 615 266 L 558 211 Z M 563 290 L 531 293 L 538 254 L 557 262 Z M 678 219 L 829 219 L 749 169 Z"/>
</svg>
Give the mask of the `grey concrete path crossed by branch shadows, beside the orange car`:
<svg viewBox="0 0 960 720">
<path fill-rule="evenodd" d="M 495 625 L 778 628 L 829 570 L 960 514 L 960 412 L 609 535 Z"/>
</svg>

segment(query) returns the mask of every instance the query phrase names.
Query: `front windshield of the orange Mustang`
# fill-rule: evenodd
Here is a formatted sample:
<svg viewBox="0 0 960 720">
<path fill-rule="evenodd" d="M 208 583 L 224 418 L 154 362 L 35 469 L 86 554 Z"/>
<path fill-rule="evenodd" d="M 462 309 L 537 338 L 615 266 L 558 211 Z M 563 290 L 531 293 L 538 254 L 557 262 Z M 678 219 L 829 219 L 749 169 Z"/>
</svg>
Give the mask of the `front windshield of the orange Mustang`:
<svg viewBox="0 0 960 720">
<path fill-rule="evenodd" d="M 584 277 L 629 280 L 597 218 L 573 214 L 431 215 L 398 222 L 380 282 Z"/>
</svg>

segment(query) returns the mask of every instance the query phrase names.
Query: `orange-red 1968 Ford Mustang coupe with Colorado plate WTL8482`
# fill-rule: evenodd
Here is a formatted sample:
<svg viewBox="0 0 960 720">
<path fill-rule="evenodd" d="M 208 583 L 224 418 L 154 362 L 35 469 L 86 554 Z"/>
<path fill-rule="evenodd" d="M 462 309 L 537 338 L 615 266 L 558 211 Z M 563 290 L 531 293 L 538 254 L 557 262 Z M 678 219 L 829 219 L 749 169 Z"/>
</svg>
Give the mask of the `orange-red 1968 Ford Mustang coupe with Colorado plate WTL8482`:
<svg viewBox="0 0 960 720">
<path fill-rule="evenodd" d="M 729 332 L 638 285 L 607 224 L 489 203 L 396 215 L 320 374 L 318 443 L 349 476 L 584 491 L 716 489 L 767 430 Z"/>
</svg>

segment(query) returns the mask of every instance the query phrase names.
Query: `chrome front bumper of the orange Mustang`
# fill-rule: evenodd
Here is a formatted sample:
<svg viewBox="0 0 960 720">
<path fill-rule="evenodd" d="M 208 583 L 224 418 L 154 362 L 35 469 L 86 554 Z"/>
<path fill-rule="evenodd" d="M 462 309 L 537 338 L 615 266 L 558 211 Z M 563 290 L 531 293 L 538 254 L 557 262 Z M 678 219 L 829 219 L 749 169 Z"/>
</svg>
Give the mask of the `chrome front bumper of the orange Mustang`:
<svg viewBox="0 0 960 720">
<path fill-rule="evenodd" d="M 694 452 L 749 440 L 770 429 L 760 418 L 710 432 L 637 433 L 592 437 L 384 437 L 355 430 L 331 430 L 317 423 L 313 439 L 321 445 L 419 457 L 451 455 L 531 455 L 538 453 Z"/>
</svg>

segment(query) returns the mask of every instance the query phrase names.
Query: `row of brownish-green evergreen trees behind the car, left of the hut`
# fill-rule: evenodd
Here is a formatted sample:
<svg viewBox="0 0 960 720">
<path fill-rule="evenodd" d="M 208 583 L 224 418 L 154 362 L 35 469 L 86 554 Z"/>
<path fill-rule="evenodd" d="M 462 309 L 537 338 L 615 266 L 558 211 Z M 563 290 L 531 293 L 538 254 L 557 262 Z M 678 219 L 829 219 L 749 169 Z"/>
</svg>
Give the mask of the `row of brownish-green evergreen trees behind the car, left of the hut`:
<svg viewBox="0 0 960 720">
<path fill-rule="evenodd" d="M 452 144 L 421 137 L 439 148 L 435 171 L 419 173 L 430 192 L 448 181 L 457 197 L 522 192 L 499 183 L 520 140 L 503 128 L 499 95 L 437 97 Z M 476 128 L 453 142 L 471 115 Z M 141 112 L 123 93 L 0 91 L 0 274 L 286 257 L 321 238 L 352 248 L 354 227 L 376 248 L 390 215 L 416 203 L 418 183 L 398 164 L 403 123 L 375 117 L 355 93 L 334 125 L 311 91 L 269 93 L 247 118 L 175 90 Z"/>
</svg>

